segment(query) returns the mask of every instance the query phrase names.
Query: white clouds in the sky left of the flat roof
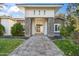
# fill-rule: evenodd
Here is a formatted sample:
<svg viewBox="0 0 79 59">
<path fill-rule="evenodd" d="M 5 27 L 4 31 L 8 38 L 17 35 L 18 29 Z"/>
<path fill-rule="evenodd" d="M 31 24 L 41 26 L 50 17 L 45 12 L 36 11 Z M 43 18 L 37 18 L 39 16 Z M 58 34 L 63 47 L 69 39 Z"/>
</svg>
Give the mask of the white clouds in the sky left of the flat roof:
<svg viewBox="0 0 79 59">
<path fill-rule="evenodd" d="M 21 14 L 22 14 L 21 10 L 15 4 L 5 4 L 0 9 L 0 16 L 2 16 L 2 15 L 13 16 L 13 15 L 15 15 L 15 17 L 17 17 L 17 16 L 20 16 Z"/>
</svg>

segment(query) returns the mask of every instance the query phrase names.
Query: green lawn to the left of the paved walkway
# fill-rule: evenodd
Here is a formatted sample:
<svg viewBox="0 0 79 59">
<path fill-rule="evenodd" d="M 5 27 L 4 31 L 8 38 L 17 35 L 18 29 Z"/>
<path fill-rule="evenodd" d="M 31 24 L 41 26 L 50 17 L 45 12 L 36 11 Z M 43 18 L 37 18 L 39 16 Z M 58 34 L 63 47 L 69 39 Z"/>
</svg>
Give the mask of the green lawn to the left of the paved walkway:
<svg viewBox="0 0 79 59">
<path fill-rule="evenodd" d="M 0 56 L 6 56 L 23 43 L 21 39 L 0 38 Z"/>
</svg>

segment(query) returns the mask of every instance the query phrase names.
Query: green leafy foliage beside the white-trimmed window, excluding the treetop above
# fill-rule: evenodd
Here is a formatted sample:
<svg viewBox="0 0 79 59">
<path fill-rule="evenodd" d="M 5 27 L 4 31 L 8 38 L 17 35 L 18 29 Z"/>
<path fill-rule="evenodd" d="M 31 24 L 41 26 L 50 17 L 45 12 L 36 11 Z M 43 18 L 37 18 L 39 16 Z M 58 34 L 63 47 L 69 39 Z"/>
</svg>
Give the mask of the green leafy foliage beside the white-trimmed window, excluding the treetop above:
<svg viewBox="0 0 79 59">
<path fill-rule="evenodd" d="M 67 23 L 64 24 L 60 29 L 60 34 L 62 36 L 64 36 L 65 38 L 70 37 L 70 36 L 73 37 L 74 36 L 73 34 L 76 29 L 76 27 L 75 27 L 76 22 L 75 21 L 76 20 L 74 17 L 68 16 Z"/>
</svg>

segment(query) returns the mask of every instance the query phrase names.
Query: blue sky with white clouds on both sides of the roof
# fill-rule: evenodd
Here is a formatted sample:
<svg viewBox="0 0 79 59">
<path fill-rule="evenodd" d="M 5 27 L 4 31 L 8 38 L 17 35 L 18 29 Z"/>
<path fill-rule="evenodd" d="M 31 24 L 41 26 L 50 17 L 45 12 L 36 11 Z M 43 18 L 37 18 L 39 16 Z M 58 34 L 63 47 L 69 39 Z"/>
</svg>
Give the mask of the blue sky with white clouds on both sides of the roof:
<svg viewBox="0 0 79 59">
<path fill-rule="evenodd" d="M 67 5 L 68 4 L 64 3 L 64 5 L 58 10 L 57 14 L 65 14 Z M 0 15 L 10 15 L 15 18 L 24 16 L 15 3 L 5 3 L 3 9 L 0 10 Z"/>
</svg>

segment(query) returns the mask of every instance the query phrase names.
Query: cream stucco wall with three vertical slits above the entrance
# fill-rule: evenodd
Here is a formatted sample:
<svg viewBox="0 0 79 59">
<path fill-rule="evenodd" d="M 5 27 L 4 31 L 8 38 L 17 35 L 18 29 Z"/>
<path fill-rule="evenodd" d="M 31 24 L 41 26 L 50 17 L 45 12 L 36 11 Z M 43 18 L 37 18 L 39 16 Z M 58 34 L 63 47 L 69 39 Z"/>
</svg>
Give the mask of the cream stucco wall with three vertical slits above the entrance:
<svg viewBox="0 0 79 59">
<path fill-rule="evenodd" d="M 40 13 L 39 13 L 40 11 Z M 50 8 L 26 8 L 26 17 L 54 17 L 54 9 Z"/>
</svg>

